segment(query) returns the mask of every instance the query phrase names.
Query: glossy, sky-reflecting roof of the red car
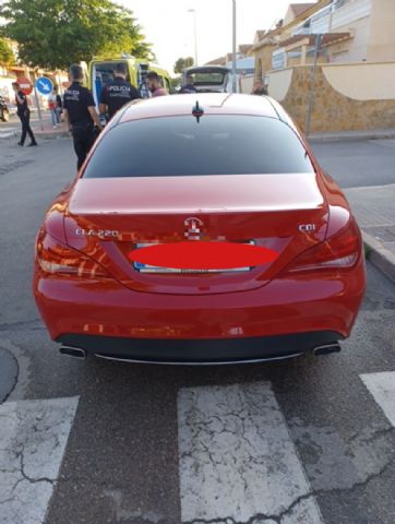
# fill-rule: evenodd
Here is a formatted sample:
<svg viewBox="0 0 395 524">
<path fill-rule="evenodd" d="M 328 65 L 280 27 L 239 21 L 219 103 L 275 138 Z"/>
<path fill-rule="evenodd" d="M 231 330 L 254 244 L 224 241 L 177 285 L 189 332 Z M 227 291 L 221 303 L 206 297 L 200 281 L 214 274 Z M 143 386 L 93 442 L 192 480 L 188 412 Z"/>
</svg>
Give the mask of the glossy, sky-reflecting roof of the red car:
<svg viewBox="0 0 395 524">
<path fill-rule="evenodd" d="M 191 115 L 199 102 L 205 115 L 248 115 L 278 119 L 271 98 L 256 95 L 229 93 L 193 93 L 185 95 L 157 96 L 127 106 L 118 123 L 144 118 Z"/>
</svg>

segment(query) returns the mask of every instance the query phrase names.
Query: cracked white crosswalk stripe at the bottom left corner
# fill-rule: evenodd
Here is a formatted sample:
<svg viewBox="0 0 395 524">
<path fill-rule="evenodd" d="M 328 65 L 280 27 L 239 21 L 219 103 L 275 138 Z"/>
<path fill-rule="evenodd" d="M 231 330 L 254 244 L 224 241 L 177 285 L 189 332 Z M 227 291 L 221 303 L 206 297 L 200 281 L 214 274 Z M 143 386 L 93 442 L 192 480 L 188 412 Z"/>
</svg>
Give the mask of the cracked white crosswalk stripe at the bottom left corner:
<svg viewBox="0 0 395 524">
<path fill-rule="evenodd" d="M 0 524 L 43 524 L 79 397 L 0 405 Z"/>
</svg>

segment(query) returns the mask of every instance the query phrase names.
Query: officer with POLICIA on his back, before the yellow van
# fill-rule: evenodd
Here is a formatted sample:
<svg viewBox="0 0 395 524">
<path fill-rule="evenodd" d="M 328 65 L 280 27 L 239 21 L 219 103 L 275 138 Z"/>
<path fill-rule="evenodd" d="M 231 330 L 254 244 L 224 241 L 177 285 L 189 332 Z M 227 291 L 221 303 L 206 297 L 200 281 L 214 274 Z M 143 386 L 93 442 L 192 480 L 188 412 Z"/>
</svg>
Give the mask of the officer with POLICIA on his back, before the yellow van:
<svg viewBox="0 0 395 524">
<path fill-rule="evenodd" d="M 140 98 L 139 91 L 127 81 L 127 64 L 117 63 L 113 70 L 113 81 L 105 85 L 100 95 L 99 111 L 112 118 L 128 102 Z"/>
</svg>

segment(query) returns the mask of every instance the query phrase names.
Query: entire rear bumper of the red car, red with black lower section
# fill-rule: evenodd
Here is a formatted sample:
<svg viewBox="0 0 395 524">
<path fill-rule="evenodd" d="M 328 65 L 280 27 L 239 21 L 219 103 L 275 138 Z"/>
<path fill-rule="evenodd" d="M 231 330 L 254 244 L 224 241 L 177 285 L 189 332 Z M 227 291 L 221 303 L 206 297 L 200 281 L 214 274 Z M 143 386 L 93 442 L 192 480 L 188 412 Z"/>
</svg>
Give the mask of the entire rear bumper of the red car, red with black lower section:
<svg viewBox="0 0 395 524">
<path fill-rule="evenodd" d="M 133 291 L 116 281 L 45 276 L 37 307 L 52 340 L 141 361 L 283 358 L 346 338 L 366 287 L 352 272 L 278 278 L 247 291 L 182 296 Z"/>
</svg>

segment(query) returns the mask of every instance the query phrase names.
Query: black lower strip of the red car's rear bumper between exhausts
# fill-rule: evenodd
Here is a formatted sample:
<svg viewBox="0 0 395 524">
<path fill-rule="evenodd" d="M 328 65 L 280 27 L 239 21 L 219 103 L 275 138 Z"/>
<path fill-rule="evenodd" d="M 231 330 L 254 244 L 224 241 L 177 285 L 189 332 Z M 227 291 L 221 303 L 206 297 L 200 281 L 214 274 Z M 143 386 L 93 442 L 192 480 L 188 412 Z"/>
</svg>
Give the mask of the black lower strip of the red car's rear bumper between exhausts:
<svg viewBox="0 0 395 524">
<path fill-rule="evenodd" d="M 64 334 L 57 342 L 89 355 L 113 360 L 149 364 L 216 365 L 277 360 L 336 343 L 343 336 L 331 331 L 279 336 L 220 340 L 142 340 Z"/>
</svg>

